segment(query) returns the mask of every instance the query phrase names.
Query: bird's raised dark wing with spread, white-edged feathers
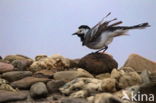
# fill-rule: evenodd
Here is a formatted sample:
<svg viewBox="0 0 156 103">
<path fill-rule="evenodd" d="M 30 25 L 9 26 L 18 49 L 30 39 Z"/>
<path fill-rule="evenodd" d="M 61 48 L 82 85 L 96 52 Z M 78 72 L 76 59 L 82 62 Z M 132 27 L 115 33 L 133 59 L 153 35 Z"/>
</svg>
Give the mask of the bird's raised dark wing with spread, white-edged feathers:
<svg viewBox="0 0 156 103">
<path fill-rule="evenodd" d="M 98 22 L 94 27 L 92 27 L 92 29 L 90 30 L 90 32 L 88 32 L 88 34 L 85 37 L 85 41 L 84 44 L 87 44 L 88 42 L 92 42 L 94 41 L 97 37 L 100 36 L 100 34 L 102 32 L 104 32 L 105 30 L 107 30 L 108 27 L 113 27 L 116 25 L 119 25 L 122 23 L 122 21 L 118 21 L 116 23 L 113 23 L 111 25 L 109 25 L 110 22 L 117 20 L 116 18 L 109 20 L 109 21 L 104 21 L 104 19 L 106 17 L 108 17 L 111 13 L 108 13 L 100 22 Z"/>
</svg>

